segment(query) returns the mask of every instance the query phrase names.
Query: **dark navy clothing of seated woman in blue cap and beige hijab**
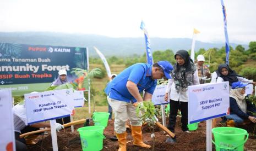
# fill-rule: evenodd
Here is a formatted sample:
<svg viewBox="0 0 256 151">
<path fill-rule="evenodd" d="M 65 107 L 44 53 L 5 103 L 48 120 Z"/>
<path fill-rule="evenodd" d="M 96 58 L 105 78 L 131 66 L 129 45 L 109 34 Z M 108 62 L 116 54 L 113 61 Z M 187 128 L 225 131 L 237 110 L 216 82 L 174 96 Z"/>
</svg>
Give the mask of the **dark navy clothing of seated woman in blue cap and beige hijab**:
<svg viewBox="0 0 256 151">
<path fill-rule="evenodd" d="M 256 108 L 255 108 L 255 106 L 253 106 L 253 104 L 251 102 L 246 101 L 246 104 L 247 104 L 247 111 L 256 113 Z M 236 115 L 238 115 L 238 117 L 240 117 L 242 119 L 248 119 L 248 117 L 250 115 L 252 115 L 252 113 L 250 113 L 250 112 L 244 113 L 238 107 L 235 98 L 230 97 L 230 114 L 236 114 Z"/>
</svg>

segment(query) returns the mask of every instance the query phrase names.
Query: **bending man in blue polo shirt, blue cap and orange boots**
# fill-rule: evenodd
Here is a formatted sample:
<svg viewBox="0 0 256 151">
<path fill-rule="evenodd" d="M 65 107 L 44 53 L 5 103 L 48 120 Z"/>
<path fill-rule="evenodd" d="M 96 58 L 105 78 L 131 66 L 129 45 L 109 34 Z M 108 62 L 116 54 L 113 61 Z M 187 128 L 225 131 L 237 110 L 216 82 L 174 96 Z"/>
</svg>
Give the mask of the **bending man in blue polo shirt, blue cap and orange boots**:
<svg viewBox="0 0 256 151">
<path fill-rule="evenodd" d="M 107 101 L 115 113 L 115 131 L 119 149 L 126 150 L 126 121 L 132 125 L 133 144 L 150 148 L 142 140 L 141 121 L 136 114 L 136 106 L 143 106 L 143 101 L 149 101 L 156 87 L 156 79 L 170 79 L 173 67 L 168 61 L 159 61 L 154 65 L 136 63 L 119 73 L 107 85 L 105 92 Z M 145 90 L 141 97 L 140 93 Z"/>
</svg>

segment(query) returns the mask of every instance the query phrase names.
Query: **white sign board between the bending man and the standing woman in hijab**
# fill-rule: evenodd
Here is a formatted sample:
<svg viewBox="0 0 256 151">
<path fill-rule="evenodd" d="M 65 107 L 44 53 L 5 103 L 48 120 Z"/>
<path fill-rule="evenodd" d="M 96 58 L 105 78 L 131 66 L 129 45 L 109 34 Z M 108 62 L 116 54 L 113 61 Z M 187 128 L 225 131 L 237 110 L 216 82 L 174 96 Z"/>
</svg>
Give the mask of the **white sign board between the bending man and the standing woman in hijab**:
<svg viewBox="0 0 256 151">
<path fill-rule="evenodd" d="M 170 102 L 168 100 L 165 101 L 165 90 L 167 88 L 167 85 L 156 85 L 155 91 L 152 95 L 152 102 L 154 105 L 160 105 L 160 104 L 167 104 Z"/>
</svg>

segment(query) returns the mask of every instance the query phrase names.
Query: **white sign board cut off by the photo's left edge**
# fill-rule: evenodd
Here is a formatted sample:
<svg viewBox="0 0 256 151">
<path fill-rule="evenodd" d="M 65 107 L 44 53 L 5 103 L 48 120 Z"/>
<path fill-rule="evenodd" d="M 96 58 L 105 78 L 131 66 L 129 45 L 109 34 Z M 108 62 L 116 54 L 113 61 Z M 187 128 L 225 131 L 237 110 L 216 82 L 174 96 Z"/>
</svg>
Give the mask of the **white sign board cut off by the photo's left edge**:
<svg viewBox="0 0 256 151">
<path fill-rule="evenodd" d="M 15 150 L 12 92 L 0 90 L 0 150 Z"/>
</svg>

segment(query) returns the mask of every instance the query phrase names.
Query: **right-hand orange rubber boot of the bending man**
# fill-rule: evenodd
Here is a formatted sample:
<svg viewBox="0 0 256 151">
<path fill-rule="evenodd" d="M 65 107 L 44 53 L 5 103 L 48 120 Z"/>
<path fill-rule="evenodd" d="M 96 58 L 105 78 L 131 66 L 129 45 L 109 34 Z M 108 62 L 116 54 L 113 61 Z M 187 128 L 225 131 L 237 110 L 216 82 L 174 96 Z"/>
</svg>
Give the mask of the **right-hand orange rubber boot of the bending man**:
<svg viewBox="0 0 256 151">
<path fill-rule="evenodd" d="M 143 143 L 141 126 L 132 126 L 133 144 L 144 148 L 150 148 L 151 146 Z"/>
</svg>

